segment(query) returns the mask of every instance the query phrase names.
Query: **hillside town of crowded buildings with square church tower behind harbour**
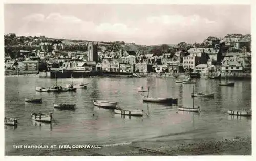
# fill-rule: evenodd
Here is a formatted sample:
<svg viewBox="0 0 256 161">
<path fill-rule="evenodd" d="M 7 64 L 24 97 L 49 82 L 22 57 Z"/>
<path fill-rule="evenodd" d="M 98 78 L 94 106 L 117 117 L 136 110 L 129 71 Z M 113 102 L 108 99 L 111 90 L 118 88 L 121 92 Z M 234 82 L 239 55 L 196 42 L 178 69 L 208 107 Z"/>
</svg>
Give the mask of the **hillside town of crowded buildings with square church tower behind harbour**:
<svg viewBox="0 0 256 161">
<path fill-rule="evenodd" d="M 45 36 L 5 35 L 5 74 L 41 71 L 250 73 L 251 35 L 209 36 L 202 43 L 145 46 Z"/>
</svg>

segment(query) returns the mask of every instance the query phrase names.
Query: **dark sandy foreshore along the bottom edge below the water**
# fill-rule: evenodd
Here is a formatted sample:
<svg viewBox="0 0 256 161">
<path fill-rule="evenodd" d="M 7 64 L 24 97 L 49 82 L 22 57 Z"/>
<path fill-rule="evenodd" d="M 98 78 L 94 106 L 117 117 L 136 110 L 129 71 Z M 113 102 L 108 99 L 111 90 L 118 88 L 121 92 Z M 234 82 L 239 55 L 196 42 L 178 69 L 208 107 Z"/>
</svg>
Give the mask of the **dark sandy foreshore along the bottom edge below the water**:
<svg viewBox="0 0 256 161">
<path fill-rule="evenodd" d="M 57 156 L 131 156 L 131 155 L 251 155 L 251 138 L 223 140 L 182 140 L 137 142 L 101 149 L 45 151 L 39 155 Z"/>
</svg>

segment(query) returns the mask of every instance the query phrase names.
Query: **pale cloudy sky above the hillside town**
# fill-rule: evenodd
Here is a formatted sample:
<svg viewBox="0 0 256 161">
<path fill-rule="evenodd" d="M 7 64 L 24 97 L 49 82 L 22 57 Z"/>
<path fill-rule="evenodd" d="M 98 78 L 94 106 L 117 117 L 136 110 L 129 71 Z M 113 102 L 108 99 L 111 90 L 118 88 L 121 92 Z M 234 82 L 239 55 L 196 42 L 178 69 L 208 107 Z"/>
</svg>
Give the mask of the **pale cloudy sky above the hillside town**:
<svg viewBox="0 0 256 161">
<path fill-rule="evenodd" d="M 5 4 L 5 33 L 142 45 L 251 33 L 249 5 Z"/>
</svg>

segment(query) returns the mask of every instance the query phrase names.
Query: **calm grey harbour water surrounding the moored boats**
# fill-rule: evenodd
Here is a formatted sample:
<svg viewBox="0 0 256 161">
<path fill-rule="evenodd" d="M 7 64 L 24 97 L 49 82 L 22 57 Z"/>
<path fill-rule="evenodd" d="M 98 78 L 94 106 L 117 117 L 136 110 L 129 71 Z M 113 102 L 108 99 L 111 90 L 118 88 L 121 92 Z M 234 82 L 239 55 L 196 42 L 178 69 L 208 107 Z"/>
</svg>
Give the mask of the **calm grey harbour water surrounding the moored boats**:
<svg viewBox="0 0 256 161">
<path fill-rule="evenodd" d="M 73 79 L 80 83 L 82 79 Z M 251 136 L 250 117 L 231 117 L 228 109 L 250 109 L 251 81 L 236 81 L 234 87 L 219 81 L 198 80 L 196 92 L 214 92 L 214 98 L 195 98 L 201 113 L 178 112 L 177 106 L 143 103 L 137 86 L 150 86 L 150 96 L 177 97 L 178 105 L 191 106 L 193 84 L 178 84 L 173 78 L 86 78 L 87 89 L 76 92 L 40 93 L 35 86 L 51 86 L 54 79 L 5 78 L 5 116 L 16 118 L 17 128 L 5 127 L 6 155 L 35 155 L 43 150 L 13 149 L 12 145 L 121 144 L 136 141 L 233 138 Z M 58 79 L 65 86 L 71 79 Z M 145 89 L 146 90 L 146 89 Z M 143 93 L 146 95 L 146 93 Z M 25 103 L 25 97 L 41 97 L 42 104 Z M 148 117 L 121 117 L 113 110 L 94 107 L 93 99 L 118 101 L 127 109 L 143 109 Z M 53 109 L 53 103 L 75 103 L 75 111 Z M 32 122 L 32 112 L 53 113 L 55 123 Z M 93 116 L 93 114 L 95 114 Z"/>
</svg>

